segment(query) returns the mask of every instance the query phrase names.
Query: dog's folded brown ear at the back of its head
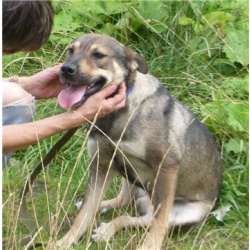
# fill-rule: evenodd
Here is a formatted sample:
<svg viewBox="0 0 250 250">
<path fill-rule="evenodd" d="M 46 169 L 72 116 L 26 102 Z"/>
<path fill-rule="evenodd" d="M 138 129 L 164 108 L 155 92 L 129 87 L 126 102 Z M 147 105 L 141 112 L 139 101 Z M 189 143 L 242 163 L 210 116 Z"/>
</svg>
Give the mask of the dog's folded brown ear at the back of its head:
<svg viewBox="0 0 250 250">
<path fill-rule="evenodd" d="M 143 74 L 148 73 L 148 64 L 144 57 L 128 47 L 125 47 L 125 53 L 127 56 L 128 66 L 132 71 L 138 70 Z"/>
</svg>

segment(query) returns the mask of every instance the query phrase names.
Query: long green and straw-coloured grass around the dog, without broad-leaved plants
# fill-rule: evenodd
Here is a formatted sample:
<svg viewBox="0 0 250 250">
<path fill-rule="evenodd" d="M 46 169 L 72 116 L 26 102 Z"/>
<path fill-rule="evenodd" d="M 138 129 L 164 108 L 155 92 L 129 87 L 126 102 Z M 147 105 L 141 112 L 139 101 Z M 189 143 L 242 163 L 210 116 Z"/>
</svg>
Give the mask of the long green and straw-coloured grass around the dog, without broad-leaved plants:
<svg viewBox="0 0 250 250">
<path fill-rule="evenodd" d="M 192 1 L 189 3 L 193 4 Z M 172 21 L 163 23 L 167 29 L 166 34 L 151 31 L 150 35 L 143 36 L 137 30 L 133 37 L 138 34 L 141 38 L 127 40 L 126 43 L 145 56 L 150 72 L 165 83 L 166 88 L 188 106 L 214 134 L 221 149 L 224 166 L 223 186 L 216 208 L 232 205 L 232 209 L 223 222 L 209 215 L 206 223 L 199 228 L 190 232 L 171 232 L 165 239 L 164 247 L 188 250 L 248 249 L 248 128 L 241 129 L 238 124 L 237 115 L 243 119 L 243 113 L 226 110 L 232 103 L 248 106 L 248 93 L 235 85 L 235 77 L 244 78 L 248 70 L 237 63 L 221 63 L 218 60 L 223 38 L 218 35 L 216 26 L 211 24 L 208 24 L 207 31 L 217 34 L 213 38 L 217 39 L 216 43 L 211 39 L 211 34 L 205 32 L 203 38 L 206 40 L 206 48 L 200 46 L 193 50 L 191 38 L 186 36 L 188 32 L 192 32 L 192 28 L 179 26 L 177 22 L 184 12 L 188 13 L 187 7 L 169 13 Z M 131 27 L 130 29 L 132 30 Z M 72 32 L 71 36 L 76 36 L 75 33 Z M 53 35 L 57 35 L 56 31 Z M 63 62 L 64 57 L 65 45 L 60 40 L 51 39 L 37 52 L 4 57 L 3 74 L 30 75 L 54 63 Z M 35 119 L 61 112 L 63 111 L 57 106 L 56 100 L 37 101 Z M 77 131 L 64 150 L 41 173 L 39 181 L 42 185 L 34 188 L 34 195 L 28 198 L 30 214 L 33 217 L 35 214 L 40 227 L 36 242 L 47 242 L 63 236 L 76 217 L 77 211 L 73 203 L 84 196 L 90 162 L 86 147 L 83 146 L 86 132 L 84 127 Z M 8 249 L 22 249 L 15 242 L 28 233 L 17 220 L 20 189 L 27 174 L 59 137 L 60 135 L 56 135 L 39 145 L 17 152 L 10 166 L 3 171 L 3 239 L 8 242 Z M 240 143 L 236 147 L 230 146 L 231 144 L 228 146 L 230 140 L 241 142 L 241 146 Z M 117 179 L 112 183 L 107 198 L 116 196 L 119 187 L 120 180 Z M 121 211 L 108 212 L 104 216 L 98 215 L 93 227 L 100 221 L 109 221 L 123 213 L 133 214 L 135 209 L 128 207 Z M 88 232 L 73 249 L 135 249 L 143 233 L 144 230 L 139 228 L 126 229 L 119 232 L 108 244 L 97 244 L 91 242 Z"/>
</svg>

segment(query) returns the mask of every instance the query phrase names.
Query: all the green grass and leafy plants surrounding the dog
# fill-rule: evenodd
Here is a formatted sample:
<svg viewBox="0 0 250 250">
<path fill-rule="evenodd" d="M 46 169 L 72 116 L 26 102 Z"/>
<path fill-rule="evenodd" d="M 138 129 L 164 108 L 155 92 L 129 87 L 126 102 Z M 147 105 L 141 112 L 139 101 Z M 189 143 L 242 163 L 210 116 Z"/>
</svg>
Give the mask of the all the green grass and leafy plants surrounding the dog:
<svg viewBox="0 0 250 250">
<path fill-rule="evenodd" d="M 86 6 L 79 1 L 54 3 L 56 18 L 50 41 L 37 52 L 4 57 L 3 75 L 31 75 L 63 62 L 66 44 L 90 31 L 112 35 L 141 53 L 149 64 L 150 73 L 157 76 L 214 134 L 224 166 L 223 186 L 216 207 L 232 206 L 223 222 L 209 215 L 199 228 L 190 232 L 171 232 L 164 246 L 168 249 L 248 249 L 249 158 L 248 127 L 244 123 L 248 114 L 243 113 L 248 111 L 245 88 L 248 67 L 239 61 L 232 63 L 224 51 L 228 29 L 244 28 L 241 26 L 247 21 L 244 20 L 247 15 L 243 13 L 247 4 L 236 1 L 235 6 L 230 7 L 229 2 L 226 5 L 223 1 L 156 1 L 147 6 L 147 1 L 140 4 L 135 1 L 130 4 L 117 2 L 117 7 L 112 9 L 112 2 L 108 2 L 106 12 L 102 11 L 105 10 L 104 2 L 85 3 L 92 7 L 92 11 L 86 11 Z M 150 13 L 153 8 L 159 11 L 158 16 Z M 164 15 L 161 10 L 165 11 Z M 224 17 L 222 12 L 228 15 Z M 216 13 L 220 22 L 215 21 Z M 211 19 L 211 15 L 215 19 Z M 83 22 L 84 18 L 87 22 Z M 62 20 L 64 25 L 61 25 Z M 35 120 L 61 112 L 56 100 L 37 101 Z M 33 195 L 28 197 L 29 212 L 38 224 L 36 242 L 60 238 L 76 217 L 74 202 L 84 196 L 89 174 L 86 135 L 84 127 L 77 131 L 40 175 L 40 184 L 38 182 Z M 21 248 L 17 241 L 28 233 L 18 221 L 20 188 L 59 137 L 53 136 L 17 152 L 3 171 L 3 239 L 8 243 L 8 249 Z M 119 187 L 118 178 L 112 183 L 107 198 L 116 196 Z M 124 213 L 134 214 L 136 211 L 130 206 L 104 216 L 97 215 L 92 226 Z M 144 230 L 139 228 L 126 229 L 107 244 L 97 244 L 91 241 L 89 231 L 73 249 L 135 249 L 143 233 Z"/>
</svg>

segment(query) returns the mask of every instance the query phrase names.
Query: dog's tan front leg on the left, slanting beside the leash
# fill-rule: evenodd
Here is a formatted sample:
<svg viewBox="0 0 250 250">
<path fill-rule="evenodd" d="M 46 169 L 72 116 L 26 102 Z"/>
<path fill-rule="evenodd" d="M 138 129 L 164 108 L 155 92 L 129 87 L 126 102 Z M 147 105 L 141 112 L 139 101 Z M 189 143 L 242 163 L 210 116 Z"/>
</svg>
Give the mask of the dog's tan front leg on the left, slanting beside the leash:
<svg viewBox="0 0 250 250">
<path fill-rule="evenodd" d="M 102 201 L 110 182 L 115 176 L 116 173 L 112 171 L 110 171 L 107 176 L 106 173 L 102 173 L 101 170 L 91 172 L 86 189 L 86 195 L 79 214 L 77 215 L 69 232 L 56 242 L 56 247 L 60 247 L 60 249 L 68 248 L 72 244 L 79 241 L 92 222 L 96 212 L 98 211 L 100 202 Z"/>
</svg>

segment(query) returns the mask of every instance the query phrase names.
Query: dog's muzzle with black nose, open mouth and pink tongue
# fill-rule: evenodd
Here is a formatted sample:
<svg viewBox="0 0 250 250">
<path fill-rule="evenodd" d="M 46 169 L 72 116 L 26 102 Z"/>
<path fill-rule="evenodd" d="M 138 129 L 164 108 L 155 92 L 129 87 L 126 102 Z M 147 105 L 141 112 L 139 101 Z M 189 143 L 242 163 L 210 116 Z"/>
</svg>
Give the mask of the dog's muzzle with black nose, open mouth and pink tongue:
<svg viewBox="0 0 250 250">
<path fill-rule="evenodd" d="M 79 74 L 77 66 L 66 63 L 60 70 L 60 80 L 63 84 L 68 85 L 58 95 L 59 105 L 64 109 L 79 107 L 107 82 L 107 79 L 103 76 Z"/>
</svg>

